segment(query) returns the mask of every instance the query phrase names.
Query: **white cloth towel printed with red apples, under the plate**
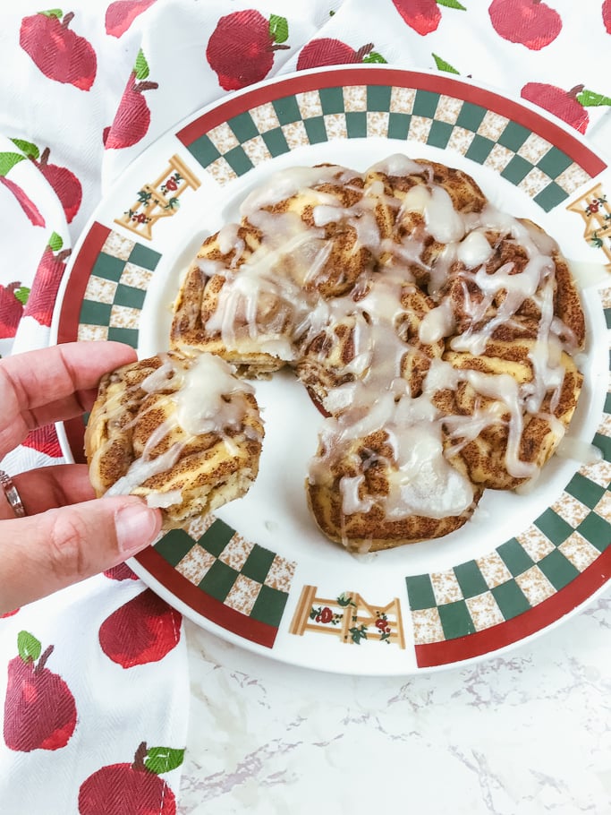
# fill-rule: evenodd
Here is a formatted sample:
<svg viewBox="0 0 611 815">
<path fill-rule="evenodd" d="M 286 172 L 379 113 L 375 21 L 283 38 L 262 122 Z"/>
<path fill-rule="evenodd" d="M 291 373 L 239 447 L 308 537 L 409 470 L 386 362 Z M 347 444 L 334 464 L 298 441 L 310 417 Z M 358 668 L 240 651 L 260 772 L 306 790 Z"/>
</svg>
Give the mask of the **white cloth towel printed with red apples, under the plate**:
<svg viewBox="0 0 611 815">
<path fill-rule="evenodd" d="M 594 138 L 610 116 L 609 47 L 611 0 L 12 4 L 0 29 L 0 354 L 50 341 L 74 242 L 123 168 L 232 90 L 318 65 L 437 69 Z M 61 460 L 45 427 L 2 467 Z M 126 566 L 0 619 L 0 704 L 6 815 L 180 811 L 181 618 Z"/>
</svg>

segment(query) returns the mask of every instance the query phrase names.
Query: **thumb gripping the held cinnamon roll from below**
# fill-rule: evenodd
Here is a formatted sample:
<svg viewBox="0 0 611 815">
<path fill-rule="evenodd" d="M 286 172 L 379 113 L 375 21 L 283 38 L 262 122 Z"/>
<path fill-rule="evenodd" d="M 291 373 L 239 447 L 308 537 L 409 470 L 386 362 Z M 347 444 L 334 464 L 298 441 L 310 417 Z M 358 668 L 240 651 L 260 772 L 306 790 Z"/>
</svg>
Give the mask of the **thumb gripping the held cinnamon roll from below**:
<svg viewBox="0 0 611 815">
<path fill-rule="evenodd" d="M 159 510 L 132 495 L 0 521 L 0 613 L 123 562 L 160 529 Z"/>
</svg>

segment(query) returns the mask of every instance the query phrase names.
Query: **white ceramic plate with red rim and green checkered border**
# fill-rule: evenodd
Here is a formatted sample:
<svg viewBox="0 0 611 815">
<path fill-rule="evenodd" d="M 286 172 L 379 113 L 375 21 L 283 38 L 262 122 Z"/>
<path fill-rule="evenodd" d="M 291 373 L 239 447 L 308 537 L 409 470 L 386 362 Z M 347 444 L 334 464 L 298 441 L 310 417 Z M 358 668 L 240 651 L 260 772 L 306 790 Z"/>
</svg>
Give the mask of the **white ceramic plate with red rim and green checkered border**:
<svg viewBox="0 0 611 815">
<path fill-rule="evenodd" d="M 539 109 L 444 74 L 351 66 L 263 82 L 178 124 L 127 169 L 72 253 L 55 314 L 58 341 L 120 339 L 140 356 L 164 350 L 182 271 L 254 185 L 281 167 L 333 161 L 364 170 L 394 152 L 466 170 L 572 260 L 588 338 L 570 435 L 603 458 L 556 456 L 530 494 L 486 493 L 453 535 L 355 557 L 321 536 L 307 509 L 317 410 L 288 374 L 257 383 L 266 421 L 257 483 L 132 566 L 226 639 L 355 674 L 482 658 L 561 621 L 607 582 L 606 162 Z M 82 422 L 64 426 L 68 457 L 81 459 L 82 435 Z"/>
</svg>

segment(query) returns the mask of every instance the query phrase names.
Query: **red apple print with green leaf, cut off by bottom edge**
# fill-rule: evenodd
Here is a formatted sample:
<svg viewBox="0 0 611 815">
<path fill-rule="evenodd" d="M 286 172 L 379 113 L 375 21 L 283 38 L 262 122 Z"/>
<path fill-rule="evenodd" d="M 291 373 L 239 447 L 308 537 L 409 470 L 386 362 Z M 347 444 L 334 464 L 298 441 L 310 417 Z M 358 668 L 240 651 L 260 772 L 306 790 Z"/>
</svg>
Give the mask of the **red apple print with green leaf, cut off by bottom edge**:
<svg viewBox="0 0 611 815">
<path fill-rule="evenodd" d="M 83 781 L 80 815 L 175 815 L 174 793 L 159 775 L 180 767 L 183 758 L 183 750 L 142 742 L 132 764 L 108 764 Z"/>
</svg>

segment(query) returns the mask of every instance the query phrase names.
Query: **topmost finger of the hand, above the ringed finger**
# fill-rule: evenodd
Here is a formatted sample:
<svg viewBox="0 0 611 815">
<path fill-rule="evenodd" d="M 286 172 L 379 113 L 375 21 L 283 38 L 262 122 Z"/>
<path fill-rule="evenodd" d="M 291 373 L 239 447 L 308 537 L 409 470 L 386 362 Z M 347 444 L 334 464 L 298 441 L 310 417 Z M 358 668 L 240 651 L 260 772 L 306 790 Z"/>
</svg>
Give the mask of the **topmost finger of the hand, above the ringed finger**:
<svg viewBox="0 0 611 815">
<path fill-rule="evenodd" d="M 40 425 L 91 407 L 104 373 L 132 362 L 120 342 L 72 342 L 9 356 L 0 362 L 0 457 Z"/>
</svg>

